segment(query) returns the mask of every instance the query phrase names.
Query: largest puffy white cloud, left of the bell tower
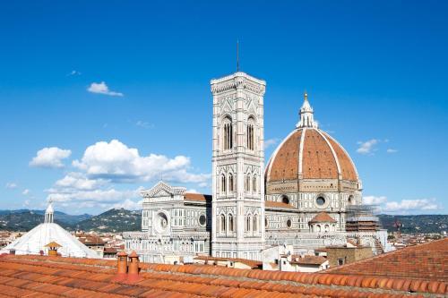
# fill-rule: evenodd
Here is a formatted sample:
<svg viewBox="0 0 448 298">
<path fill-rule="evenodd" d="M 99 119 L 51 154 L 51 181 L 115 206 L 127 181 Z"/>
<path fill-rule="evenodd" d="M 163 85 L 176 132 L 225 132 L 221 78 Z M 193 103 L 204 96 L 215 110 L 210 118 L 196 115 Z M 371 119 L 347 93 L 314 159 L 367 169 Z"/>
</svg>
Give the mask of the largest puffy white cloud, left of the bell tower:
<svg viewBox="0 0 448 298">
<path fill-rule="evenodd" d="M 128 148 L 119 140 L 99 141 L 89 146 L 81 160 L 74 160 L 73 166 L 84 171 L 90 178 L 102 178 L 116 183 L 135 183 L 163 179 L 181 183 L 205 183 L 209 174 L 188 172 L 190 158 L 150 154 L 140 156 L 138 149 Z"/>
</svg>

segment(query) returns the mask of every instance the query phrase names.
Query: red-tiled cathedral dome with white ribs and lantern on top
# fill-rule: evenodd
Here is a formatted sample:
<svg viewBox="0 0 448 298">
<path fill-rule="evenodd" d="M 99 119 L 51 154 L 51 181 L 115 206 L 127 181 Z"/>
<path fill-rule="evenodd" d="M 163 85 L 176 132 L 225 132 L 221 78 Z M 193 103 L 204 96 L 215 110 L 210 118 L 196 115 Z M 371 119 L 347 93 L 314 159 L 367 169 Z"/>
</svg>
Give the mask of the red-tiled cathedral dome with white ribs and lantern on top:
<svg viewBox="0 0 448 298">
<path fill-rule="evenodd" d="M 266 167 L 266 183 L 301 179 L 338 179 L 358 183 L 357 169 L 345 149 L 318 128 L 307 96 L 300 121 L 274 151 Z"/>
</svg>

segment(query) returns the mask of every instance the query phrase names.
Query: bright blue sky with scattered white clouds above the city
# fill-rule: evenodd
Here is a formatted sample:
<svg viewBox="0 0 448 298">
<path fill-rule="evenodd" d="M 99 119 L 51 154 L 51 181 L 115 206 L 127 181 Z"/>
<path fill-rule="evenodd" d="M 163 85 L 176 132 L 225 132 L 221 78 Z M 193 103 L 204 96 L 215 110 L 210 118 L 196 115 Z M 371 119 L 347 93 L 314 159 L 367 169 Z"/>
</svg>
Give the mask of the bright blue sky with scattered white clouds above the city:
<svg viewBox="0 0 448 298">
<path fill-rule="evenodd" d="M 0 5 L 0 209 L 136 208 L 162 173 L 210 193 L 210 80 L 235 71 L 239 39 L 242 71 L 267 81 L 266 158 L 307 90 L 366 201 L 446 214 L 444 1 Z"/>
</svg>

